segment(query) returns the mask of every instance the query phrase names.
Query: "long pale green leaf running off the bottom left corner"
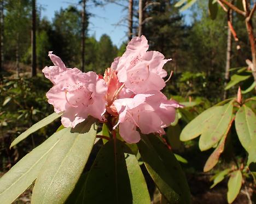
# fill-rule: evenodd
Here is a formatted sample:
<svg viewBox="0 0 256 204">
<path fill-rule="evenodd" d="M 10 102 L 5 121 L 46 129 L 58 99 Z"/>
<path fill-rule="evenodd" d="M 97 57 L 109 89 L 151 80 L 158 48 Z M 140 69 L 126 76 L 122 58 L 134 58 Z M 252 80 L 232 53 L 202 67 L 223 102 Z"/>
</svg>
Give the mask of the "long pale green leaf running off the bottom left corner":
<svg viewBox="0 0 256 204">
<path fill-rule="evenodd" d="M 0 203 L 9 204 L 23 193 L 37 178 L 48 154 L 56 147 L 57 143 L 68 129 L 63 129 L 53 134 L 42 145 L 34 148 L 16 165 L 14 165 L 0 179 Z"/>
</svg>

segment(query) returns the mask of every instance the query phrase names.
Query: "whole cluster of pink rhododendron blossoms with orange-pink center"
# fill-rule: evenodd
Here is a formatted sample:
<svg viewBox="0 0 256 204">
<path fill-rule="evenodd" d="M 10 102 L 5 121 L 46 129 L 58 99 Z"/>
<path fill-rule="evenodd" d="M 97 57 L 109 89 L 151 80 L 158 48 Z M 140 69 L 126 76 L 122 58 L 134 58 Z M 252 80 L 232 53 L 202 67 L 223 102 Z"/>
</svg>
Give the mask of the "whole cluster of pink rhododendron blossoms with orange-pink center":
<svg viewBox="0 0 256 204">
<path fill-rule="evenodd" d="M 168 100 L 161 89 L 167 73 L 164 64 L 171 59 L 157 51 L 147 51 L 148 41 L 143 35 L 133 38 L 121 57 L 114 59 L 104 76 L 77 68 L 66 68 L 59 57 L 49 52 L 54 66 L 43 73 L 54 86 L 46 93 L 55 112 L 63 112 L 65 127 L 75 127 L 88 115 L 105 121 L 104 115 L 117 118 L 119 133 L 128 143 L 140 140 L 143 134 L 165 134 L 164 128 L 175 118 L 176 101 Z"/>
</svg>

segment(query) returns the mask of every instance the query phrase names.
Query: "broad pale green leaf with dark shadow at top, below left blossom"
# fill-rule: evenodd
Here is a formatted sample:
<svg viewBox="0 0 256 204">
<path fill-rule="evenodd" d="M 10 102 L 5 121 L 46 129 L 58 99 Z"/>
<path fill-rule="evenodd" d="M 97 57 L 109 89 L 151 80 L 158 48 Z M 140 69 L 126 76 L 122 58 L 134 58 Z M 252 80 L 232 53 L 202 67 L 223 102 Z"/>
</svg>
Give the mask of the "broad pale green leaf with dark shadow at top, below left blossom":
<svg viewBox="0 0 256 204">
<path fill-rule="evenodd" d="M 32 203 L 63 203 L 72 193 L 94 146 L 94 122 L 89 117 L 61 137 L 36 179 Z"/>
</svg>

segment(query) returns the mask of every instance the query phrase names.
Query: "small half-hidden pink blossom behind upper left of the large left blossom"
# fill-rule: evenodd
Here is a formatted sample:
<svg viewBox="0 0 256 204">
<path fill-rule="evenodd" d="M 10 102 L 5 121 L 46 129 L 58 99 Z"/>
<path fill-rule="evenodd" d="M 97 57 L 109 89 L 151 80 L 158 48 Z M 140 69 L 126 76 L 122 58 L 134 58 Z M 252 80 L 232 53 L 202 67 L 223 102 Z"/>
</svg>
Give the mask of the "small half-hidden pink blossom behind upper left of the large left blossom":
<svg viewBox="0 0 256 204">
<path fill-rule="evenodd" d="M 44 76 L 49 79 L 55 85 L 56 77 L 58 77 L 63 71 L 66 71 L 67 68 L 65 64 L 62 62 L 61 58 L 52 54 L 53 52 L 49 52 L 49 57 L 51 61 L 54 63 L 54 66 L 45 67 L 42 71 Z"/>
</svg>

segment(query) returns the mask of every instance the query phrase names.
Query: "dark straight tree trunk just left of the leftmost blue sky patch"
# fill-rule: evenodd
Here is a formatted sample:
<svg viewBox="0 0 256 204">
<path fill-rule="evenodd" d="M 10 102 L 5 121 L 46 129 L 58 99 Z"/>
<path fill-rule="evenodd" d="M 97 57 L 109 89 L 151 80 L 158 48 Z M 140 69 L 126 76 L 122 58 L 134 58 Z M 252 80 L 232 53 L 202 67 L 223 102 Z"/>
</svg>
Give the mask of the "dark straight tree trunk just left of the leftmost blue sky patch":
<svg viewBox="0 0 256 204">
<path fill-rule="evenodd" d="M 37 56 L 36 56 L 36 0 L 32 0 L 32 31 L 31 31 L 31 47 L 32 47 L 32 69 L 31 75 L 37 75 Z"/>
</svg>

